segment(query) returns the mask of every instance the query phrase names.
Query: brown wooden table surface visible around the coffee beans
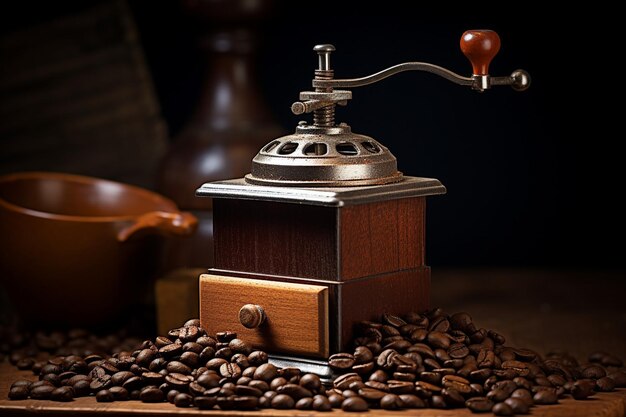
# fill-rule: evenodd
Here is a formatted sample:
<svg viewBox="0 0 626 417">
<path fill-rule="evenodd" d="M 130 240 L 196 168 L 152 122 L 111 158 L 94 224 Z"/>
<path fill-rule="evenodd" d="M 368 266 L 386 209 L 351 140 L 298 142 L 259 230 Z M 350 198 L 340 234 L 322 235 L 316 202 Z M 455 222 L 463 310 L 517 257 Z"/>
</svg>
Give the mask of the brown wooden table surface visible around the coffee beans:
<svg viewBox="0 0 626 417">
<path fill-rule="evenodd" d="M 513 271 L 434 270 L 432 304 L 449 312 L 468 311 L 478 326 L 493 328 L 507 343 L 539 352 L 567 350 L 584 359 L 593 350 L 606 350 L 626 359 L 626 276 L 622 271 Z M 70 403 L 10 401 L 10 383 L 18 378 L 35 379 L 28 371 L 0 364 L 0 415 L 199 415 L 219 416 L 315 416 L 313 411 L 199 411 L 171 404 L 138 401 L 97 403 L 94 397 Z M 333 411 L 330 415 L 341 413 Z M 342 413 L 343 414 L 343 413 Z M 469 410 L 370 410 L 370 416 L 462 417 Z M 491 414 L 486 414 L 491 415 Z M 534 407 L 532 416 L 626 417 L 626 389 L 599 393 L 586 401 L 571 398 L 559 405 Z"/>
</svg>

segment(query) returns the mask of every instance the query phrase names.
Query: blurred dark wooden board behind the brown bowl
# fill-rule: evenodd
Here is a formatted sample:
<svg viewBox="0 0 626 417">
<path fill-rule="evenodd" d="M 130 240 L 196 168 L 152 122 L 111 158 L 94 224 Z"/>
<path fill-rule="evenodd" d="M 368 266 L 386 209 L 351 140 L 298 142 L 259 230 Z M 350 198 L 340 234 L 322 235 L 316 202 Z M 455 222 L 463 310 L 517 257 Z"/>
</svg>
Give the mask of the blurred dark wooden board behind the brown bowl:
<svg viewBox="0 0 626 417">
<path fill-rule="evenodd" d="M 127 4 L 21 5 L 2 20 L 0 173 L 154 187 L 167 131 Z"/>
</svg>

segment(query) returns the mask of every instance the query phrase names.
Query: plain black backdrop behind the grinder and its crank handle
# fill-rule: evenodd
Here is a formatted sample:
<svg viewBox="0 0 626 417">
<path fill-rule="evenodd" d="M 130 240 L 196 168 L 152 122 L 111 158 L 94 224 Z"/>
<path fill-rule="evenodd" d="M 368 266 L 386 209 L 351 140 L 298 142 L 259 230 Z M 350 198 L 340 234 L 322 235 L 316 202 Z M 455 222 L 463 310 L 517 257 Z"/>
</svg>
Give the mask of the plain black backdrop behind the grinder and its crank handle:
<svg viewBox="0 0 626 417">
<path fill-rule="evenodd" d="M 129 4 L 175 137 L 200 92 L 199 28 L 178 2 Z M 404 174 L 435 177 L 448 188 L 429 201 L 429 264 L 622 269 L 624 48 L 617 13 L 594 7 L 553 14 L 512 4 L 516 13 L 495 15 L 489 4 L 467 6 L 279 2 L 262 27 L 259 55 L 271 111 L 286 132 L 303 119 L 289 107 L 310 88 L 317 43 L 336 46 L 338 78 L 405 61 L 469 75 L 461 34 L 494 29 L 502 49 L 492 75 L 524 68 L 533 81 L 527 92 L 500 87 L 478 94 L 430 74 L 404 73 L 355 89 L 338 121 L 389 147 Z M 20 7 L 3 13 L 3 33 L 84 6 Z"/>
</svg>

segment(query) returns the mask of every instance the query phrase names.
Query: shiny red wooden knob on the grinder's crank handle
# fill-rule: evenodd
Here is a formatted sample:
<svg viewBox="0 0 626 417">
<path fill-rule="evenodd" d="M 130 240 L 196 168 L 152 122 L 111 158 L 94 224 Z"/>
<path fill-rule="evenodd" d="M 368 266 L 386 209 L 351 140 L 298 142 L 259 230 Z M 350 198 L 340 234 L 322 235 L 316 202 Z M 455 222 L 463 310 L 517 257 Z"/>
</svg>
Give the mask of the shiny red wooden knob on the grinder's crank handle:
<svg viewBox="0 0 626 417">
<path fill-rule="evenodd" d="M 474 75 L 488 75 L 489 63 L 500 50 L 500 37 L 493 30 L 468 30 L 461 36 L 461 51 L 472 63 Z"/>
</svg>

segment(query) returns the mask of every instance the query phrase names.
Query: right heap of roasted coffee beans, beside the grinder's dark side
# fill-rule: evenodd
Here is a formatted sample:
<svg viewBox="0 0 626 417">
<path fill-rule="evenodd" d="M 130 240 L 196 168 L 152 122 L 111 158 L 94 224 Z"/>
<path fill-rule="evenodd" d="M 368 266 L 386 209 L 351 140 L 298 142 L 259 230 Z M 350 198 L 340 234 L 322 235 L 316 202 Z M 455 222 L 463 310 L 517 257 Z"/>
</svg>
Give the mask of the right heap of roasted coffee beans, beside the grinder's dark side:
<svg viewBox="0 0 626 417">
<path fill-rule="evenodd" d="M 380 323 L 359 323 L 354 351 L 329 358 L 341 375 L 327 394 L 332 404 L 352 399 L 359 411 L 467 407 L 510 416 L 626 387 L 623 363 L 612 355 L 594 353 L 579 364 L 565 353 L 542 358 L 505 343 L 467 313 L 385 314 Z"/>
</svg>

